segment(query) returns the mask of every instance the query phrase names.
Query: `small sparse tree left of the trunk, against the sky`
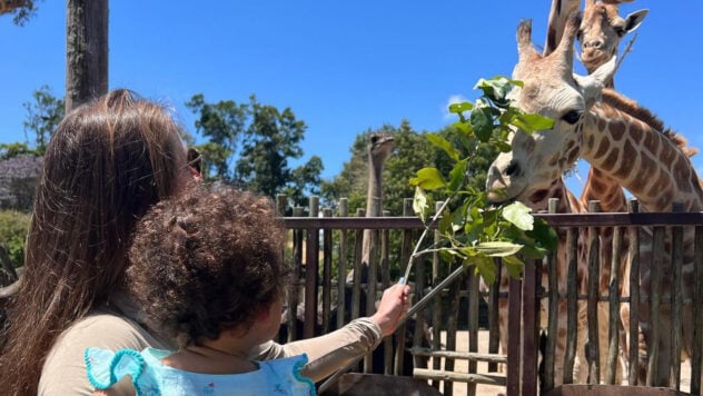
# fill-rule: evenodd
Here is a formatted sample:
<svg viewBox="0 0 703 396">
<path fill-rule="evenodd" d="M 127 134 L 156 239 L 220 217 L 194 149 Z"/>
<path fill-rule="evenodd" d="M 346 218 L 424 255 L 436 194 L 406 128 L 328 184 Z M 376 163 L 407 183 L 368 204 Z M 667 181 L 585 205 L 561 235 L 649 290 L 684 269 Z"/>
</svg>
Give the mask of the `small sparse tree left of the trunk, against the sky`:
<svg viewBox="0 0 703 396">
<path fill-rule="evenodd" d="M 63 119 L 65 101 L 51 93 L 49 86 L 41 86 L 32 92 L 33 102 L 24 102 L 27 118 L 22 121 L 24 136 L 29 141 L 29 136 L 34 137 L 34 154 L 43 156 L 51 135 Z"/>
</svg>

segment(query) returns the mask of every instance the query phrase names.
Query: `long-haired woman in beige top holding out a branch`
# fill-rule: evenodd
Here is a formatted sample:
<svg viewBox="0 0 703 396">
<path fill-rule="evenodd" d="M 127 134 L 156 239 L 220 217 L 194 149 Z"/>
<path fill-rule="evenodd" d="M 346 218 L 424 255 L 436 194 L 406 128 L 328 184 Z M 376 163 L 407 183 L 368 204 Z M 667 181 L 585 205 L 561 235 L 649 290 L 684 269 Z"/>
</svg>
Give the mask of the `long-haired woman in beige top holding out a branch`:
<svg viewBox="0 0 703 396">
<path fill-rule="evenodd" d="M 125 270 L 137 220 L 200 181 L 180 130 L 165 108 L 128 90 L 77 108 L 59 125 L 44 156 L 24 274 L 9 309 L 0 357 L 3 394 L 89 395 L 86 347 L 174 346 L 143 319 L 126 291 Z M 319 380 L 395 330 L 409 288 L 389 291 L 370 318 L 314 339 L 269 341 L 250 357 L 306 353 L 305 375 Z"/>
</svg>

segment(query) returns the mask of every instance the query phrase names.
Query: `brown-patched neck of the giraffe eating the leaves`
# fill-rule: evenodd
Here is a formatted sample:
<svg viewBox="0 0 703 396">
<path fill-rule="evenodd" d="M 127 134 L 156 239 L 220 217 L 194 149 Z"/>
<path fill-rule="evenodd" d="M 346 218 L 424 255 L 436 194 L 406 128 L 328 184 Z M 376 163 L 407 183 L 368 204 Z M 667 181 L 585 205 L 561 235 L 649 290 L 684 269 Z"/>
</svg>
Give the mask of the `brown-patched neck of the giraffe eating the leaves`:
<svg viewBox="0 0 703 396">
<path fill-rule="evenodd" d="M 613 95 L 610 92 L 608 95 Z M 701 210 L 697 175 L 666 133 L 608 102 L 594 106 L 583 128 L 582 157 L 635 196 L 645 211 L 670 211 L 674 201 Z"/>
</svg>

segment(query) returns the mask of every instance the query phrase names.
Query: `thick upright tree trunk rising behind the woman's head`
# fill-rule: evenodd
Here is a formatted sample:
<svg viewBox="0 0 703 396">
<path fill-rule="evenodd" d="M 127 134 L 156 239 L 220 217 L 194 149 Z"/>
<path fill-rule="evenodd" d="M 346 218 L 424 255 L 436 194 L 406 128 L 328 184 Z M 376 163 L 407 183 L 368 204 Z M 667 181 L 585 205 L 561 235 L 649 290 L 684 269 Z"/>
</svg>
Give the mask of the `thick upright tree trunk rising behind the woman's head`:
<svg viewBox="0 0 703 396">
<path fill-rule="evenodd" d="M 66 112 L 108 91 L 108 0 L 67 0 Z"/>
</svg>

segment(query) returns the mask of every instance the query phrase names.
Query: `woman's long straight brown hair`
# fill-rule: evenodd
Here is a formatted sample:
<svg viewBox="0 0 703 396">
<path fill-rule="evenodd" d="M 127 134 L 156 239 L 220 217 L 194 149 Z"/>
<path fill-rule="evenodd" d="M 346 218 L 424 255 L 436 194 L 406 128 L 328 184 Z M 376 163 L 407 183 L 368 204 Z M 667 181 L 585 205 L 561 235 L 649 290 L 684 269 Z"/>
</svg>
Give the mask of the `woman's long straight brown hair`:
<svg viewBox="0 0 703 396">
<path fill-rule="evenodd" d="M 0 356 L 2 393 L 34 395 L 61 331 L 123 286 L 136 221 L 176 189 L 179 126 L 116 90 L 57 128 L 37 190 L 21 286 Z"/>
</svg>

